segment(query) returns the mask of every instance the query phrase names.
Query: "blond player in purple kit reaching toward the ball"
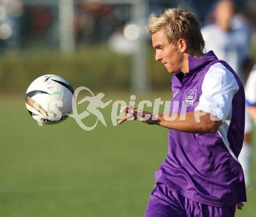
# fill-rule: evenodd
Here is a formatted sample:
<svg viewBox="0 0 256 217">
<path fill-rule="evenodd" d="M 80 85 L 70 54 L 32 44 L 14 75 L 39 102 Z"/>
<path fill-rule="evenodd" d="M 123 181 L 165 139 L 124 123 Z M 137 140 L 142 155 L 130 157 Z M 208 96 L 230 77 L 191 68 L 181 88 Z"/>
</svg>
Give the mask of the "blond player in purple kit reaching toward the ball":
<svg viewBox="0 0 256 217">
<path fill-rule="evenodd" d="M 204 39 L 193 13 L 168 9 L 151 15 L 147 26 L 155 60 L 172 77 L 168 117 L 129 105 L 129 118 L 169 129 L 168 156 L 155 173 L 145 217 L 234 216 L 246 201 L 243 169 L 245 97 L 241 81 Z M 145 115 L 149 118 L 144 118 Z"/>
</svg>

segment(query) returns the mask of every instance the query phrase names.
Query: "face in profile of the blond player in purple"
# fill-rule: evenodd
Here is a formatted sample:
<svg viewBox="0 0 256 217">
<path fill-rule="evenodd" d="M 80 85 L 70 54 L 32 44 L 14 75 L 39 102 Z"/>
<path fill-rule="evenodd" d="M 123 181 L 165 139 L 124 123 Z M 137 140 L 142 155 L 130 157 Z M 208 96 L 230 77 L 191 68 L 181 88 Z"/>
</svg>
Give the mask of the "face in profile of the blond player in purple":
<svg viewBox="0 0 256 217">
<path fill-rule="evenodd" d="M 183 53 L 176 45 L 169 44 L 163 30 L 152 34 L 152 45 L 155 48 L 155 60 L 161 61 L 168 73 L 182 71 Z"/>
</svg>

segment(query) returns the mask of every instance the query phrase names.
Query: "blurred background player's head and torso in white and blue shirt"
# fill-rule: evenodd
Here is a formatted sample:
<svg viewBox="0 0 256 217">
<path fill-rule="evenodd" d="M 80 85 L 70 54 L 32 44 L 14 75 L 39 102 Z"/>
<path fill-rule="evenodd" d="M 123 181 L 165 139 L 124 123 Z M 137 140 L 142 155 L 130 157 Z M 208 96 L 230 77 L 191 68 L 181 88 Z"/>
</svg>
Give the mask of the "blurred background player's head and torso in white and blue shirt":
<svg viewBox="0 0 256 217">
<path fill-rule="evenodd" d="M 214 10 L 215 23 L 202 28 L 202 36 L 207 51 L 230 64 L 244 79 L 243 64 L 250 57 L 250 24 L 246 19 L 234 14 L 232 0 L 220 0 Z"/>
</svg>

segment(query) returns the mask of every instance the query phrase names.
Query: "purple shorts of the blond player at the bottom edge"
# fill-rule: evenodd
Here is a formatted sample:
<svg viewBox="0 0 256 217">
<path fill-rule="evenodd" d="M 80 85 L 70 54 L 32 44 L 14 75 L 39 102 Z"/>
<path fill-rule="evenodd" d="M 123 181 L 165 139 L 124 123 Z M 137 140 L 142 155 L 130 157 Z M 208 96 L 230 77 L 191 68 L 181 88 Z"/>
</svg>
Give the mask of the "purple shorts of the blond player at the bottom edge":
<svg viewBox="0 0 256 217">
<path fill-rule="evenodd" d="M 158 183 L 150 196 L 144 217 L 233 217 L 236 206 L 212 207 L 182 196 Z"/>
</svg>

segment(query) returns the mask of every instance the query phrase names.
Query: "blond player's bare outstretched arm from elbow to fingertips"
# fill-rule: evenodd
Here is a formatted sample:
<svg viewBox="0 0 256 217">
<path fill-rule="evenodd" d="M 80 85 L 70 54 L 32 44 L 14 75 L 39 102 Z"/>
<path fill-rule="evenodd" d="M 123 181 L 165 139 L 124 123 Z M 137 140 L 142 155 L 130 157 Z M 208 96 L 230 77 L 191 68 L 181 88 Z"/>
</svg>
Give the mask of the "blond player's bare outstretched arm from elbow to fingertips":
<svg viewBox="0 0 256 217">
<path fill-rule="evenodd" d="M 190 133 L 214 133 L 217 132 L 219 126 L 222 125 L 222 121 L 219 119 L 216 120 L 214 115 L 204 113 L 199 110 L 190 111 L 186 114 L 173 115 L 176 118 L 172 118 L 172 120 L 169 120 L 169 115 L 168 118 L 165 118 L 165 115 L 163 114 L 153 114 L 148 111 L 140 111 L 137 108 L 131 108 L 130 106 L 123 107 L 121 112 L 125 112 L 127 115 L 120 119 L 118 124 L 122 124 L 127 119 L 138 119 L 145 124 L 156 124 L 165 128 Z M 150 118 L 144 120 L 143 117 L 145 115 L 148 115 Z"/>
</svg>

